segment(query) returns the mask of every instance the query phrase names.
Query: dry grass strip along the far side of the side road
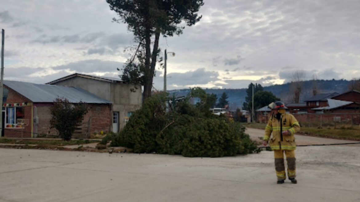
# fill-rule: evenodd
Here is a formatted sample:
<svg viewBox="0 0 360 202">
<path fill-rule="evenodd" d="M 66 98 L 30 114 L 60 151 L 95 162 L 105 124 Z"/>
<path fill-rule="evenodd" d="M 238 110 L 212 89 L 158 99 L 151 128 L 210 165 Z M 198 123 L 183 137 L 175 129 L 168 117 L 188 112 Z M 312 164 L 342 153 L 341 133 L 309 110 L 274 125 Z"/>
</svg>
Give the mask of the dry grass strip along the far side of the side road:
<svg viewBox="0 0 360 202">
<path fill-rule="evenodd" d="M 247 128 L 256 128 L 265 130 L 265 123 L 245 123 L 243 124 Z M 325 138 L 334 138 L 334 139 L 347 139 L 347 140 L 355 140 L 360 141 L 360 127 L 359 125 L 343 126 L 339 125 L 338 128 L 334 129 L 334 127 L 324 127 L 323 128 L 312 128 L 312 127 L 304 127 L 300 128 L 300 132 L 297 134 L 304 134 L 308 136 L 315 137 L 325 137 Z"/>
</svg>

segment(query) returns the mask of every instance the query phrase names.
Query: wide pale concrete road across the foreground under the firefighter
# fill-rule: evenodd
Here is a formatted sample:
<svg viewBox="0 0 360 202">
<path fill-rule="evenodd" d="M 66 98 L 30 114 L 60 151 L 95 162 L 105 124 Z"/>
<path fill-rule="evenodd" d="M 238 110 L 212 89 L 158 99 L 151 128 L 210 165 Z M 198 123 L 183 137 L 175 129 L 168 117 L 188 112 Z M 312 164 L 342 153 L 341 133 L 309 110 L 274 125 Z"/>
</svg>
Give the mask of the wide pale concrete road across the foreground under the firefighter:
<svg viewBox="0 0 360 202">
<path fill-rule="evenodd" d="M 298 184 L 273 152 L 223 158 L 0 148 L 1 202 L 360 201 L 360 150 L 296 150 Z"/>
</svg>

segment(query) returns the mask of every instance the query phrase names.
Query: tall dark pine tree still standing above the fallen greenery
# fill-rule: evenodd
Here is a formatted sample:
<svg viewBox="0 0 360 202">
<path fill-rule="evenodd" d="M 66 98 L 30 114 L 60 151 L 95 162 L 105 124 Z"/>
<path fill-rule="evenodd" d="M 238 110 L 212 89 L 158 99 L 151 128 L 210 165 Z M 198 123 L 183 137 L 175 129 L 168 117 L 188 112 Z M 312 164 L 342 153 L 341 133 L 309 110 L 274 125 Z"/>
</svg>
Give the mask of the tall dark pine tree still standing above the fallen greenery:
<svg viewBox="0 0 360 202">
<path fill-rule="evenodd" d="M 134 56 L 123 68 L 122 79 L 144 86 L 143 99 L 151 96 L 155 66 L 159 56 L 159 38 L 180 35 L 187 26 L 197 23 L 197 12 L 203 0 L 106 0 L 119 18 L 114 22 L 126 23 L 139 43 Z M 179 24 L 181 24 L 179 26 Z M 152 41 L 153 40 L 153 41 Z M 151 50 L 151 46 L 152 50 Z M 129 78 L 124 78 L 129 77 Z"/>
</svg>

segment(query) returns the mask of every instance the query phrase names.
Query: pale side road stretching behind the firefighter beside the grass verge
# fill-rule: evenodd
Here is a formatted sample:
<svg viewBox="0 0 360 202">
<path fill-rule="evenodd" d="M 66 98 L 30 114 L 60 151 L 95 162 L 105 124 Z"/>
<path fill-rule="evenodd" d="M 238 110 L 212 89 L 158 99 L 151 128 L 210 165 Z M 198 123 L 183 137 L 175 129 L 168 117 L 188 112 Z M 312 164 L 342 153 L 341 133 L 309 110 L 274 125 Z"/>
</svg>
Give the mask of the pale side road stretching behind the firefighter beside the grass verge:
<svg viewBox="0 0 360 202">
<path fill-rule="evenodd" d="M 261 141 L 259 137 L 264 137 L 264 130 L 255 129 L 255 128 L 246 128 L 245 132 L 249 134 L 251 139 L 255 141 Z M 330 138 L 321 138 L 321 137 L 311 137 L 304 135 L 295 135 L 296 145 L 307 145 L 307 144 L 337 144 L 337 143 L 353 143 L 359 141 L 350 141 L 342 139 L 330 139 Z M 350 144 L 349 146 L 359 147 L 360 144 Z"/>
</svg>

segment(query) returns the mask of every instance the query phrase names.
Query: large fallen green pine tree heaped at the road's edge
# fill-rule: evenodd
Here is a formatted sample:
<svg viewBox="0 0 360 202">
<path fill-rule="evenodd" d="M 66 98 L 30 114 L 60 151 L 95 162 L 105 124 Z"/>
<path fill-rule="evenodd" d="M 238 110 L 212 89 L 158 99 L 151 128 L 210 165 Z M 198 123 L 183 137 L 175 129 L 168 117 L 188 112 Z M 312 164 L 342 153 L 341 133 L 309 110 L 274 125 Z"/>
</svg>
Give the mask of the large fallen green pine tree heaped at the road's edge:
<svg viewBox="0 0 360 202">
<path fill-rule="evenodd" d="M 200 101 L 189 104 L 190 98 Z M 135 153 L 164 153 L 188 157 L 221 157 L 259 152 L 245 128 L 209 110 L 216 96 L 193 88 L 183 102 L 172 103 L 167 93 L 148 98 L 126 126 L 111 138 L 111 146 Z M 168 105 L 167 105 L 168 103 Z M 108 139 L 107 139 L 108 140 Z"/>
</svg>

